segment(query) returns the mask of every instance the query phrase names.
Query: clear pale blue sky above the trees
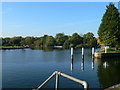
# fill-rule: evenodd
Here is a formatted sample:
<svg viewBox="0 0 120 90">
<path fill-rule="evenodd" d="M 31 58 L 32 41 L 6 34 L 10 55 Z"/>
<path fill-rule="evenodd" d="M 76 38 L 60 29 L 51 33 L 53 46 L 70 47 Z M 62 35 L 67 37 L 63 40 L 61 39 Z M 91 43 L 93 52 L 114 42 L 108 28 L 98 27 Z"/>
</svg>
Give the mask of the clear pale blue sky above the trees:
<svg viewBox="0 0 120 90">
<path fill-rule="evenodd" d="M 72 35 L 97 30 L 108 2 L 2 3 L 3 37 Z M 118 3 L 114 3 L 118 7 Z"/>
</svg>

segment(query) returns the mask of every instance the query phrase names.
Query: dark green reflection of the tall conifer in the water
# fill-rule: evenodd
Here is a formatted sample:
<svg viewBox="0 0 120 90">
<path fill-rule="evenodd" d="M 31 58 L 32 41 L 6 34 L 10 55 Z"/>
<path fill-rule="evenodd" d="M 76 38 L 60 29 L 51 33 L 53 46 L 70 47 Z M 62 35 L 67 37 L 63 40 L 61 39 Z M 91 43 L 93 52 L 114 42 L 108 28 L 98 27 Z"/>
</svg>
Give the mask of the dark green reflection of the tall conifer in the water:
<svg viewBox="0 0 120 90">
<path fill-rule="evenodd" d="M 120 59 L 96 59 L 97 75 L 103 88 L 120 83 Z"/>
</svg>

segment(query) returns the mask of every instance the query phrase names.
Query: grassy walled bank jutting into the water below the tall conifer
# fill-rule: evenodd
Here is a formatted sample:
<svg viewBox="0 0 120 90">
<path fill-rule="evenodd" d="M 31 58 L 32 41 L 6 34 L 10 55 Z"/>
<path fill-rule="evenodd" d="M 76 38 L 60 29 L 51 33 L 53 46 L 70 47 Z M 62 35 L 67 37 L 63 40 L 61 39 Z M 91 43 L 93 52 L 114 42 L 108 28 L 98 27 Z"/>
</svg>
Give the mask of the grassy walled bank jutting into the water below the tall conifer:
<svg viewBox="0 0 120 90">
<path fill-rule="evenodd" d="M 109 48 L 107 52 L 104 49 L 95 52 L 95 58 L 113 58 L 113 57 L 120 57 L 120 49 Z"/>
</svg>

